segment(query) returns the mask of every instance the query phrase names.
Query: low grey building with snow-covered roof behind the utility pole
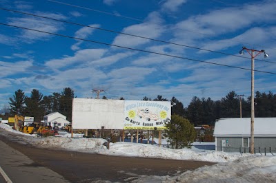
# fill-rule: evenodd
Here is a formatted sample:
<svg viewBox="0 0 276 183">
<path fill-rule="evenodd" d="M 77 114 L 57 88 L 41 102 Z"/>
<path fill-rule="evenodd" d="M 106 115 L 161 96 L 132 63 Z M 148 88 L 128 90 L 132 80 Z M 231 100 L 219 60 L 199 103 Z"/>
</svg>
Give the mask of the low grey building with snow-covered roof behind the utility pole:
<svg viewBox="0 0 276 183">
<path fill-rule="evenodd" d="M 217 151 L 249 153 L 251 118 L 221 118 L 215 122 Z M 276 118 L 255 118 L 255 153 L 276 152 Z"/>
</svg>

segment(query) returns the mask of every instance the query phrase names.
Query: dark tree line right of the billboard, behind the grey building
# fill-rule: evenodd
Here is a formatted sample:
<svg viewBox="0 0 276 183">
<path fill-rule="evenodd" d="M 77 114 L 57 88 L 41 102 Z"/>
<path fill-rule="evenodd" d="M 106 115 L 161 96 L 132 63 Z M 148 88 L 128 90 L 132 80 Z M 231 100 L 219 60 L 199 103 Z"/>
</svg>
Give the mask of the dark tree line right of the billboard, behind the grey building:
<svg viewBox="0 0 276 183">
<path fill-rule="evenodd" d="M 143 100 L 151 100 L 146 96 Z M 162 96 L 157 96 L 154 100 L 168 101 Z M 276 117 L 276 94 L 255 92 L 255 117 L 268 118 Z M 211 98 L 198 98 L 194 96 L 188 107 L 184 107 L 177 98 L 171 98 L 172 114 L 177 114 L 188 119 L 193 125 L 215 125 L 219 118 L 250 118 L 251 116 L 251 97 L 245 98 L 243 95 L 236 94 L 235 91 L 229 92 L 220 100 Z M 240 113 L 242 107 L 242 114 Z"/>
</svg>

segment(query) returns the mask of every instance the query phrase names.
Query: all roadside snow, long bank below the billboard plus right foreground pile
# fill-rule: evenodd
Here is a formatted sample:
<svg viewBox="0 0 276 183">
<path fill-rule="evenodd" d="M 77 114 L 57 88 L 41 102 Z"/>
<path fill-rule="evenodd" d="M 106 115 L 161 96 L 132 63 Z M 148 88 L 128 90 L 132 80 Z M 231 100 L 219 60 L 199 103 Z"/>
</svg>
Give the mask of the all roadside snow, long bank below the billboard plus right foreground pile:
<svg viewBox="0 0 276 183">
<path fill-rule="evenodd" d="M 101 138 L 69 138 L 68 133 L 59 137 L 41 138 L 14 131 L 6 124 L 0 128 L 10 131 L 0 135 L 12 136 L 36 147 L 65 149 L 104 155 L 121 155 L 145 158 L 164 158 L 174 160 L 197 160 L 219 162 L 204 166 L 195 171 L 186 171 L 175 177 L 133 175 L 126 182 L 276 182 L 276 157 L 272 154 L 251 155 L 250 153 L 225 153 L 221 151 L 193 151 L 193 149 L 168 149 L 152 144 L 131 142 L 110 143 L 110 149 L 103 146 Z M 12 135 L 10 135 L 12 134 Z"/>
</svg>

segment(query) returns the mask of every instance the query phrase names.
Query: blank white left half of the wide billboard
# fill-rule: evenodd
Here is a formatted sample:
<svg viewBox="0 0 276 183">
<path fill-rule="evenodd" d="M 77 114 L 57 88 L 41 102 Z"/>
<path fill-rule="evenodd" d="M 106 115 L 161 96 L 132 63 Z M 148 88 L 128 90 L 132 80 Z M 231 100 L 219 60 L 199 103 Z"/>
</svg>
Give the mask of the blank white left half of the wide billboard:
<svg viewBox="0 0 276 183">
<path fill-rule="evenodd" d="M 124 100 L 73 98 L 73 129 L 124 129 Z"/>
</svg>

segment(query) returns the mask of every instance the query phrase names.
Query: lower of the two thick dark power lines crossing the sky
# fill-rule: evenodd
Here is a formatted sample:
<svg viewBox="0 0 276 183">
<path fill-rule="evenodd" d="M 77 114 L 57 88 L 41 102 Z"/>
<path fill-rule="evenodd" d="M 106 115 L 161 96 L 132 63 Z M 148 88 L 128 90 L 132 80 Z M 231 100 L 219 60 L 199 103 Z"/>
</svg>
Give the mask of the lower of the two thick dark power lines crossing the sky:
<svg viewBox="0 0 276 183">
<path fill-rule="evenodd" d="M 158 55 L 162 55 L 162 56 L 169 56 L 169 57 L 172 57 L 172 58 L 181 58 L 181 59 L 184 59 L 184 60 L 196 61 L 196 62 L 199 62 L 199 63 L 209 63 L 209 64 L 212 64 L 212 65 L 220 65 L 220 66 L 224 66 L 224 67 L 232 67 L 232 68 L 244 69 L 244 70 L 248 70 L 248 71 L 252 70 L 252 69 L 247 69 L 247 68 L 244 68 L 244 67 L 237 67 L 237 66 L 233 66 L 233 65 L 225 65 L 225 64 L 213 63 L 213 62 L 209 62 L 209 61 L 199 61 L 197 59 L 186 58 L 186 57 L 183 57 L 183 56 L 175 56 L 175 55 L 170 55 L 170 54 L 162 54 L 162 53 L 159 53 L 159 52 L 151 52 L 151 51 L 147 51 L 147 50 L 139 50 L 139 49 L 132 48 L 132 47 L 124 47 L 124 46 L 114 45 L 114 44 L 110 44 L 110 43 L 103 43 L 103 42 L 100 42 L 100 41 L 92 41 L 92 40 L 88 40 L 88 39 L 80 39 L 80 38 L 73 37 L 73 36 L 67 36 L 67 35 L 63 35 L 63 34 L 56 34 L 56 33 L 46 32 L 46 31 L 42 31 L 42 30 L 34 30 L 34 29 L 30 29 L 30 28 L 23 28 L 23 27 L 20 27 L 20 26 L 17 26 L 17 25 L 10 25 L 10 24 L 6 24 L 6 23 L 0 23 L 0 25 L 6 25 L 6 26 L 13 27 L 13 28 L 21 28 L 21 29 L 24 29 L 24 30 L 32 30 L 34 32 L 41 32 L 41 33 L 45 33 L 45 34 L 52 34 L 52 35 L 55 35 L 55 36 L 62 36 L 62 37 L 70 38 L 70 39 L 77 39 L 77 40 L 81 40 L 81 41 L 88 41 L 88 42 L 91 42 L 91 43 L 97 43 L 97 44 L 101 44 L 101 45 L 109 45 L 109 46 L 114 46 L 114 47 L 120 47 L 120 48 L 124 48 L 124 49 L 127 49 L 127 50 L 133 50 L 133 51 L 138 51 L 138 52 L 145 52 L 145 53 L 149 53 L 149 54 L 158 54 Z M 275 74 L 276 75 L 276 73 L 274 73 L 274 72 L 265 72 L 265 71 L 255 70 L 255 69 L 254 69 L 254 71 L 255 72 L 262 72 L 262 73 L 266 73 L 266 74 Z"/>
</svg>

